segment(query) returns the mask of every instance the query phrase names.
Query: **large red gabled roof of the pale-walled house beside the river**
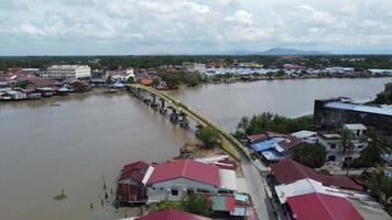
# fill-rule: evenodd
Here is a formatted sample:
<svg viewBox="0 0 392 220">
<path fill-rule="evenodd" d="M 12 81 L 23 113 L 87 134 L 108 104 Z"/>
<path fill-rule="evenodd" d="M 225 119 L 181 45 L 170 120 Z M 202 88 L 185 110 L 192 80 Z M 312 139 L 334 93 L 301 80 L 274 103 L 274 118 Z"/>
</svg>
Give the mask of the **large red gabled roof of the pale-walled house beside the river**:
<svg viewBox="0 0 392 220">
<path fill-rule="evenodd" d="M 156 165 L 148 184 L 155 184 L 176 178 L 188 178 L 217 187 L 220 186 L 218 167 L 193 160 L 176 160 Z"/>
</svg>

